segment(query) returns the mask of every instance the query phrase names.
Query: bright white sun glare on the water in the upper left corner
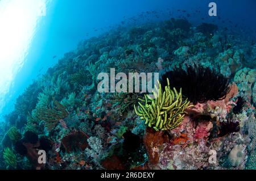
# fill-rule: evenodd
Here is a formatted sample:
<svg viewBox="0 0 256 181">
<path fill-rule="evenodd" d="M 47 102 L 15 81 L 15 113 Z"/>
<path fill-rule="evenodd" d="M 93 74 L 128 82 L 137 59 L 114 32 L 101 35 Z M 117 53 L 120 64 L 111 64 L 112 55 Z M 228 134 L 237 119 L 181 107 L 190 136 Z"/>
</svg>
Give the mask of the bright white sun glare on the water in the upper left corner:
<svg viewBox="0 0 256 181">
<path fill-rule="evenodd" d="M 0 112 L 22 68 L 46 0 L 0 1 Z"/>
</svg>

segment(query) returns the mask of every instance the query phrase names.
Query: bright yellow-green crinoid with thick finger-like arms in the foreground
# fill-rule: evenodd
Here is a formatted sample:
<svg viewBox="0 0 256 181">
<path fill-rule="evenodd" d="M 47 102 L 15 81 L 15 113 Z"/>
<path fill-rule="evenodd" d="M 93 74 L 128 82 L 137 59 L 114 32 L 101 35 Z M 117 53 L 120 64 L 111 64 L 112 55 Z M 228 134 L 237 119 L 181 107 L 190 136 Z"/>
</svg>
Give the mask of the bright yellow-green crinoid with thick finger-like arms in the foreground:
<svg viewBox="0 0 256 181">
<path fill-rule="evenodd" d="M 167 86 L 164 87 L 158 82 L 159 89 L 157 92 L 153 91 L 155 99 L 150 96 L 144 96 L 145 99 L 139 99 L 144 105 L 139 102 L 138 110 L 134 105 L 135 113 L 145 120 L 148 127 L 153 127 L 156 131 L 164 131 L 167 129 L 174 129 L 180 125 L 185 116 L 185 109 L 192 107 L 189 105 L 187 99 L 183 100 L 180 92 L 174 88 L 170 89 L 169 79 L 167 79 Z"/>
</svg>

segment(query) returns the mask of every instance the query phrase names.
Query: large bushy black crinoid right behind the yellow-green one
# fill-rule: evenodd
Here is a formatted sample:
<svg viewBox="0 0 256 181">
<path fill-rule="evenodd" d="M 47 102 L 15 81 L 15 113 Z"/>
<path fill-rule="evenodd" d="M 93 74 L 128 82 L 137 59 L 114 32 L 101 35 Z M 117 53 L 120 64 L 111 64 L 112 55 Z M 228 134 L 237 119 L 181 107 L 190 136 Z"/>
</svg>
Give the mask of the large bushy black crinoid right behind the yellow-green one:
<svg viewBox="0 0 256 181">
<path fill-rule="evenodd" d="M 162 75 L 162 87 L 167 85 L 177 90 L 182 89 L 182 94 L 192 103 L 204 103 L 207 100 L 224 99 L 229 92 L 229 78 L 226 78 L 217 70 L 204 68 L 203 66 L 186 66 L 167 71 Z"/>
</svg>

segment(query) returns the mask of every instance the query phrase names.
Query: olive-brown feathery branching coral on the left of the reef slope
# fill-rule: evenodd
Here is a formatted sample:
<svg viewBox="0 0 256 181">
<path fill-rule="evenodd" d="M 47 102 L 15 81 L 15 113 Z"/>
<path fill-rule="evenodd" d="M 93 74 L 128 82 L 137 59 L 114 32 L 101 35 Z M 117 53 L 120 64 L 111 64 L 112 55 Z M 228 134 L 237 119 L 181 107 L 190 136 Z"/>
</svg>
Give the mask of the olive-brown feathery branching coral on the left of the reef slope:
<svg viewBox="0 0 256 181">
<path fill-rule="evenodd" d="M 53 108 L 49 108 L 49 106 L 40 107 L 37 108 L 36 111 L 36 117 L 46 123 L 45 126 L 48 131 L 52 131 L 52 129 L 55 128 L 55 125 L 61 119 L 68 116 L 68 112 L 66 111 L 65 107 L 57 102 L 54 98 L 53 103 L 55 104 Z"/>
</svg>

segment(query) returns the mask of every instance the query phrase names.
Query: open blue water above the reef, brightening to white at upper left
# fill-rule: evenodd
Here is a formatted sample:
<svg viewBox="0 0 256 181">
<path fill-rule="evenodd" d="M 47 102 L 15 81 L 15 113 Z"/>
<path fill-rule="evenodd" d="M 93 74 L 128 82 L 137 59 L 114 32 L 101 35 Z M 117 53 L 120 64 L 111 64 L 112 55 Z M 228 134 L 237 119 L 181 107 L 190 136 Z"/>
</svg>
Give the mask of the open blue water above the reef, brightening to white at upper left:
<svg viewBox="0 0 256 181">
<path fill-rule="evenodd" d="M 2 6 L 0 17 L 4 14 L 5 10 L 10 11 L 10 14 L 18 14 L 15 7 L 15 3 L 17 2 L 19 0 L 2 0 L 0 2 L 0 7 Z M 22 6 L 20 6 L 19 13 L 26 13 L 26 11 L 35 9 L 37 7 L 35 2 L 34 0 L 24 0 L 21 3 Z M 122 21 L 129 21 L 132 17 L 136 18 L 136 20 L 131 22 L 134 24 L 180 16 L 184 16 L 193 23 L 212 22 L 214 20 L 214 23 L 218 26 L 232 28 L 234 31 L 244 33 L 245 36 L 255 37 L 256 11 L 254 7 L 256 2 L 254 0 L 214 1 L 217 3 L 217 16 L 213 17 L 208 15 L 208 4 L 212 1 L 38 0 L 38 2 L 45 5 L 43 8 L 45 8 L 44 11 L 46 14 L 36 15 L 31 13 L 28 15 L 37 16 L 35 20 L 31 19 L 31 22 L 26 22 L 26 19 L 24 20 L 24 23 L 27 23 L 25 26 L 33 26 L 31 25 L 34 23 L 32 21 L 35 21 L 36 24 L 34 24 L 30 32 L 26 32 L 26 27 L 20 26 L 19 24 L 16 26 L 14 24 L 13 26 L 13 28 L 17 27 L 15 31 L 23 28 L 23 35 L 20 34 L 19 36 L 27 36 L 27 39 L 16 39 L 17 42 L 13 40 L 11 44 L 20 44 L 21 50 L 19 51 L 21 52 L 12 53 L 23 53 L 24 56 L 20 57 L 19 60 L 1 60 L 1 64 L 4 61 L 13 62 L 13 65 L 10 65 L 8 69 L 14 69 L 8 83 L 4 83 L 5 86 L 1 87 L 1 89 L 5 89 L 5 91 L 1 92 L 0 96 L 1 115 L 5 115 L 13 109 L 15 99 L 30 85 L 33 79 L 40 77 L 64 53 L 75 49 L 81 40 L 100 35 L 102 32 L 118 26 Z M 5 5 L 5 3 L 8 5 Z M 42 10 L 42 7 L 40 10 Z M 148 18 L 139 18 L 139 14 L 142 12 L 152 10 L 158 12 L 158 18 L 151 14 L 148 14 Z M 18 16 L 17 18 L 8 20 L 6 23 L 18 23 Z M 5 28 L 3 23 L 0 29 L 2 28 Z M 3 33 L 16 33 L 15 31 L 3 32 L 3 30 L 0 30 L 2 35 Z M 10 34 L 10 36 L 12 35 Z M 4 43 L 2 41 L 2 44 Z M 22 46 L 24 47 L 22 48 Z M 3 52 L 5 48 L 8 47 L 3 47 Z M 19 61 L 19 63 L 15 65 L 15 61 Z M 1 68 L 4 69 L 5 64 L 1 65 Z M 2 79 L 1 81 L 4 82 Z"/>
</svg>

